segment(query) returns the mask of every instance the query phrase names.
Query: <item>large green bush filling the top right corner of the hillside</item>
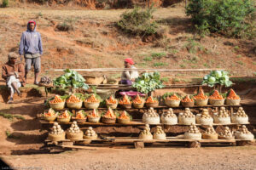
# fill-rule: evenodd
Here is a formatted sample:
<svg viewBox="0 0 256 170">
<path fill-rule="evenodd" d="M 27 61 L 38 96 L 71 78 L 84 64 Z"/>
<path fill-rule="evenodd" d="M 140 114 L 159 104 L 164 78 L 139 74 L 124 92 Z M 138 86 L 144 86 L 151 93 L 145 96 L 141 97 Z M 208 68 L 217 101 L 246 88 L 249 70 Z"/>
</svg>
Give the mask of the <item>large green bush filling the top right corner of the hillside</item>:
<svg viewBox="0 0 256 170">
<path fill-rule="evenodd" d="M 186 14 L 201 34 L 253 37 L 255 31 L 253 0 L 190 0 Z"/>
</svg>

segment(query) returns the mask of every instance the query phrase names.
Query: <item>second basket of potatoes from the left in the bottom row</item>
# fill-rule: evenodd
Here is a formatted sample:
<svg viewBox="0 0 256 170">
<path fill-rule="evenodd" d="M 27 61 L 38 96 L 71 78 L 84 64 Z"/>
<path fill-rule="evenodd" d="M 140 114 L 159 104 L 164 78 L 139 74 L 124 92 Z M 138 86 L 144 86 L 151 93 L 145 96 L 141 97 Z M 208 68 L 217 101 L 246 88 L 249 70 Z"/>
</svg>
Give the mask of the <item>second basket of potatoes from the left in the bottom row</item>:
<svg viewBox="0 0 256 170">
<path fill-rule="evenodd" d="M 83 139 L 83 134 L 76 121 L 67 129 L 67 139 L 81 140 Z"/>
</svg>

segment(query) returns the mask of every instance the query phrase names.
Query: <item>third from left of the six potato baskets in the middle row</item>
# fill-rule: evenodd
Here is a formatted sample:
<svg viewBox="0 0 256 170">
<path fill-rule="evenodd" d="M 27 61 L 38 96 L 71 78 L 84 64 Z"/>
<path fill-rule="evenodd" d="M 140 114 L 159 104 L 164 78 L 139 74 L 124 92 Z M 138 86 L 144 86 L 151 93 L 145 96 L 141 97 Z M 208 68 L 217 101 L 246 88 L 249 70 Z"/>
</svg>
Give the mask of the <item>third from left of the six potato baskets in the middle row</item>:
<svg viewBox="0 0 256 170">
<path fill-rule="evenodd" d="M 178 114 L 178 123 L 182 125 L 195 124 L 195 115 L 193 115 L 189 108 L 185 108 L 183 113 Z"/>
</svg>

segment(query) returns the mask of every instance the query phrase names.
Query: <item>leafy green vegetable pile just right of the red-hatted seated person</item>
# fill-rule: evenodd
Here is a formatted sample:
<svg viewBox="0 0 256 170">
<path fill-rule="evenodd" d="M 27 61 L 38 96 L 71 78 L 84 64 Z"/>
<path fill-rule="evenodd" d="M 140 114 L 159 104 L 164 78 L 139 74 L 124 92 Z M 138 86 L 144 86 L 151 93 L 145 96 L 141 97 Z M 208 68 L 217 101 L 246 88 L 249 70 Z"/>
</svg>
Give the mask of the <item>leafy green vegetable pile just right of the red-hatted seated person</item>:
<svg viewBox="0 0 256 170">
<path fill-rule="evenodd" d="M 138 92 L 148 94 L 158 88 L 164 88 L 163 82 L 160 81 L 159 72 L 144 73 L 138 77 L 132 84 L 133 88 L 137 88 Z"/>
</svg>

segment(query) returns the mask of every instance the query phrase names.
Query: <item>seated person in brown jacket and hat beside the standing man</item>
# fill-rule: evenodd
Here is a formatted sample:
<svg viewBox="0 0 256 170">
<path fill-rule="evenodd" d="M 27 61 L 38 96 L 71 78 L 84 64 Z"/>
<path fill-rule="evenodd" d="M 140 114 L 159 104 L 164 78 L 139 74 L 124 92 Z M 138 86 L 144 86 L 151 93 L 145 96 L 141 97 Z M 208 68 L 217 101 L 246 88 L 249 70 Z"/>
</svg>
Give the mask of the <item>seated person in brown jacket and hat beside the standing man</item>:
<svg viewBox="0 0 256 170">
<path fill-rule="evenodd" d="M 20 96 L 19 88 L 25 86 L 25 67 L 22 63 L 17 63 L 18 57 L 18 54 L 9 53 L 8 62 L 2 68 L 2 77 L 10 91 L 8 104 L 13 103 L 15 92 Z"/>
</svg>

